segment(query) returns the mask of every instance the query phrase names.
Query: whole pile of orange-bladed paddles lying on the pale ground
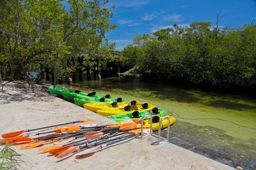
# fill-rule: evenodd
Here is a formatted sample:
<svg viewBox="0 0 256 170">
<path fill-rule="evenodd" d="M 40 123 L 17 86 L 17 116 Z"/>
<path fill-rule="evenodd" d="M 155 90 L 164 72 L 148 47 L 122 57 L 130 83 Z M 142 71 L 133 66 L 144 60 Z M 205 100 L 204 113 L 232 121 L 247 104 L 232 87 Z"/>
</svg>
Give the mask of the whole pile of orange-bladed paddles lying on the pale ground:
<svg viewBox="0 0 256 170">
<path fill-rule="evenodd" d="M 134 139 L 141 133 L 141 121 L 123 121 L 113 125 L 88 124 L 92 119 L 22 130 L 2 134 L 0 144 L 14 144 L 20 149 L 41 147 L 38 153 L 49 153 L 57 158 L 76 154 L 75 158 L 87 158 L 102 148 L 115 146 Z M 75 125 L 76 124 L 76 125 Z M 145 123 L 143 123 L 145 124 Z M 143 129 L 142 133 L 149 133 Z M 49 145 L 51 144 L 51 145 Z M 48 145 L 48 146 L 45 146 Z"/>
</svg>

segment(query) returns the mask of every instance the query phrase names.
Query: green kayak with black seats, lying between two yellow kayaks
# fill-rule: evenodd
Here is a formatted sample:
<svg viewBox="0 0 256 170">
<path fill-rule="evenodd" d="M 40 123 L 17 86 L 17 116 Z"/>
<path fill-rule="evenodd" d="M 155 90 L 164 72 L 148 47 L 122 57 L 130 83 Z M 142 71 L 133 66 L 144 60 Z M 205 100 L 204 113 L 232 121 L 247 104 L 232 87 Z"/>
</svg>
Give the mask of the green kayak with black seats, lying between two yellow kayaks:
<svg viewBox="0 0 256 170">
<path fill-rule="evenodd" d="M 124 121 L 124 120 L 141 120 L 143 114 L 145 113 L 152 113 L 153 115 L 159 115 L 159 117 L 163 117 L 167 114 L 167 111 L 162 108 L 154 107 L 151 111 L 134 111 L 133 113 L 128 114 L 116 114 L 116 115 L 109 115 L 107 118 L 115 121 Z M 150 115 L 146 115 L 145 119 L 150 119 Z"/>
</svg>

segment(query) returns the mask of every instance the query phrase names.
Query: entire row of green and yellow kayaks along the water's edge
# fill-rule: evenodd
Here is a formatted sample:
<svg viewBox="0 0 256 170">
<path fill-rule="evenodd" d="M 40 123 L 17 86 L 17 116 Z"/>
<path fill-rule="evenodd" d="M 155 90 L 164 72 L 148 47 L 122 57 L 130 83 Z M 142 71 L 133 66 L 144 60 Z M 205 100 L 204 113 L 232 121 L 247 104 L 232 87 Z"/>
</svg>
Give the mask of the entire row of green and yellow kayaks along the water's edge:
<svg viewBox="0 0 256 170">
<path fill-rule="evenodd" d="M 155 105 L 141 103 L 139 101 L 127 101 L 120 97 L 111 97 L 109 94 L 105 96 L 96 92 L 81 92 L 79 90 L 70 91 L 65 88 L 57 88 L 50 86 L 51 94 L 63 97 L 66 100 L 73 100 L 78 106 L 83 106 L 87 110 L 103 115 L 109 119 L 121 122 L 126 120 L 141 120 L 143 115 L 150 112 L 153 115 L 153 130 L 158 130 L 159 120 L 167 115 L 167 111 L 157 108 Z M 175 123 L 175 118 L 167 116 L 170 125 Z M 150 126 L 150 115 L 145 117 L 144 127 Z M 168 121 L 162 121 L 161 128 L 168 126 Z"/>
</svg>

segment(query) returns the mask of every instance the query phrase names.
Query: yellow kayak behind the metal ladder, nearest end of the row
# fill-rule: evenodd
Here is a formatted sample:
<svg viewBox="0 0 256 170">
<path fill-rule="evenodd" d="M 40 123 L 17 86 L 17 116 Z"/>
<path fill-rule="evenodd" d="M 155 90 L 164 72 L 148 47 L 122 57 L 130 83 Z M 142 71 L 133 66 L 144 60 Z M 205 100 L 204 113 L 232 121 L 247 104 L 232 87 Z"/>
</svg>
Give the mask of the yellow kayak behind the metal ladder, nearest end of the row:
<svg viewBox="0 0 256 170">
<path fill-rule="evenodd" d="M 158 118 L 157 118 L 157 117 L 158 117 Z M 170 120 L 170 126 L 172 126 L 172 125 L 175 123 L 176 118 L 170 117 L 169 115 L 167 115 L 166 117 L 169 118 L 169 120 Z M 157 116 L 157 115 L 155 115 L 155 116 L 153 117 L 153 124 L 152 124 L 152 130 L 153 130 L 153 131 L 158 131 L 159 121 L 160 121 L 162 118 L 163 118 L 163 117 L 159 117 L 159 116 Z M 145 127 L 145 128 L 150 128 L 150 119 L 147 119 L 147 120 L 144 120 L 144 121 L 145 121 L 145 125 L 143 125 L 143 127 Z M 162 121 L 161 129 L 166 128 L 167 126 L 168 126 L 168 121 L 167 121 L 167 119 L 165 119 L 165 120 Z M 140 127 L 141 127 L 140 125 L 137 126 L 137 128 L 140 128 Z"/>
</svg>

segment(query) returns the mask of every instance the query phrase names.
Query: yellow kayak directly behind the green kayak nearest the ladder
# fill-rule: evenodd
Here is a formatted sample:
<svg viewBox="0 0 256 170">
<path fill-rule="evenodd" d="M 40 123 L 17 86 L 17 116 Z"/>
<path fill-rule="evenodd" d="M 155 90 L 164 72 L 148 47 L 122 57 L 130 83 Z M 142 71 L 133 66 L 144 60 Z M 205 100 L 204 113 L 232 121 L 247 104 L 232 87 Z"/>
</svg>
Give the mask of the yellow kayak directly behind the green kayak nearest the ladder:
<svg viewBox="0 0 256 170">
<path fill-rule="evenodd" d="M 149 111 L 152 110 L 155 106 L 149 105 L 147 103 L 143 103 L 142 105 L 127 105 L 124 107 L 109 107 L 102 110 L 97 110 L 96 113 L 108 116 L 108 115 L 116 115 L 116 114 L 127 114 L 133 113 L 134 111 Z"/>
</svg>

